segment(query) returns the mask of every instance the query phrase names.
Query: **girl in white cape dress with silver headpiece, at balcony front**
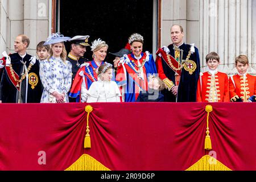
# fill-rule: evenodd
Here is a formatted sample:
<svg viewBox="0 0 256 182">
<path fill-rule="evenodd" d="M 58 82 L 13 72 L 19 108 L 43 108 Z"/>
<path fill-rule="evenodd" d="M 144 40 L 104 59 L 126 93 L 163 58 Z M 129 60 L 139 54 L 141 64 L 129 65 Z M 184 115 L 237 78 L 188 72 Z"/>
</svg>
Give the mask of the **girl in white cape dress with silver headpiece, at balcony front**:
<svg viewBox="0 0 256 182">
<path fill-rule="evenodd" d="M 81 102 L 121 102 L 121 93 L 117 83 L 111 81 L 112 64 L 102 64 L 98 68 L 97 75 L 98 81 L 93 82 L 89 90 L 82 86 Z"/>
</svg>

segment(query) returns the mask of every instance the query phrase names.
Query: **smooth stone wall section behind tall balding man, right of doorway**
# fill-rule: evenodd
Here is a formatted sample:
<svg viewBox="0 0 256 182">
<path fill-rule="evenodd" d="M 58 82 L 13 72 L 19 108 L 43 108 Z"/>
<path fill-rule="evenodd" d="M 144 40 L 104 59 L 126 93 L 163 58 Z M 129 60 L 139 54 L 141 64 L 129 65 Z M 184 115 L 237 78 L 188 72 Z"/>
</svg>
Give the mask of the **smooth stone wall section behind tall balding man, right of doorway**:
<svg viewBox="0 0 256 182">
<path fill-rule="evenodd" d="M 184 42 L 195 43 L 200 47 L 200 0 L 163 0 L 162 1 L 162 45 L 171 42 L 172 24 L 180 24 L 184 29 Z"/>
</svg>

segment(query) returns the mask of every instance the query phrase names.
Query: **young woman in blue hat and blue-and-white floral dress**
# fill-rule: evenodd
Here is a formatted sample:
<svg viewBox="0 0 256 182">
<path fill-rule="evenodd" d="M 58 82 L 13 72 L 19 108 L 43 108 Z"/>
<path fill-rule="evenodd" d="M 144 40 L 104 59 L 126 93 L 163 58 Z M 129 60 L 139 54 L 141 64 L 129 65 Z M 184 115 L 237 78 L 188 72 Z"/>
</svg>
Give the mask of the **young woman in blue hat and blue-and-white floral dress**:
<svg viewBox="0 0 256 182">
<path fill-rule="evenodd" d="M 65 60 L 67 51 L 64 41 L 70 39 L 59 35 L 49 36 L 45 44 L 50 44 L 49 59 L 40 63 L 40 78 L 44 87 L 41 103 L 68 102 L 68 91 L 72 82 L 72 64 Z"/>
</svg>

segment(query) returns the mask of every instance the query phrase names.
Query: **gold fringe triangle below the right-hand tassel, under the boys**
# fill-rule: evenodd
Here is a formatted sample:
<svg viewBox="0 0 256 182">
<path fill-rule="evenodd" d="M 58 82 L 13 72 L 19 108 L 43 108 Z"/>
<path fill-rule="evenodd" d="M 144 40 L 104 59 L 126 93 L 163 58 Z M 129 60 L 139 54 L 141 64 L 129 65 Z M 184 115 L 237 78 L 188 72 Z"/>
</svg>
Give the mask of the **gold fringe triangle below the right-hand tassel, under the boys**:
<svg viewBox="0 0 256 182">
<path fill-rule="evenodd" d="M 185 171 L 232 171 L 212 156 L 205 155 Z"/>
</svg>

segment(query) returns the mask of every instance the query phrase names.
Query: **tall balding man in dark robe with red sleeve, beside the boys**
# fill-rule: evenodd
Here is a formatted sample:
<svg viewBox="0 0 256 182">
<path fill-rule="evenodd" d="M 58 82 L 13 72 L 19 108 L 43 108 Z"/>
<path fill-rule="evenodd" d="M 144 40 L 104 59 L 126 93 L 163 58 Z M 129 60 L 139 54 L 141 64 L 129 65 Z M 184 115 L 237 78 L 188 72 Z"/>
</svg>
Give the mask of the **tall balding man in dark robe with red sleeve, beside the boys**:
<svg viewBox="0 0 256 182">
<path fill-rule="evenodd" d="M 183 42 L 183 27 L 171 27 L 172 44 L 156 52 L 156 67 L 164 81 L 165 102 L 195 102 L 197 80 L 200 74 L 199 51 L 194 44 Z"/>
</svg>

